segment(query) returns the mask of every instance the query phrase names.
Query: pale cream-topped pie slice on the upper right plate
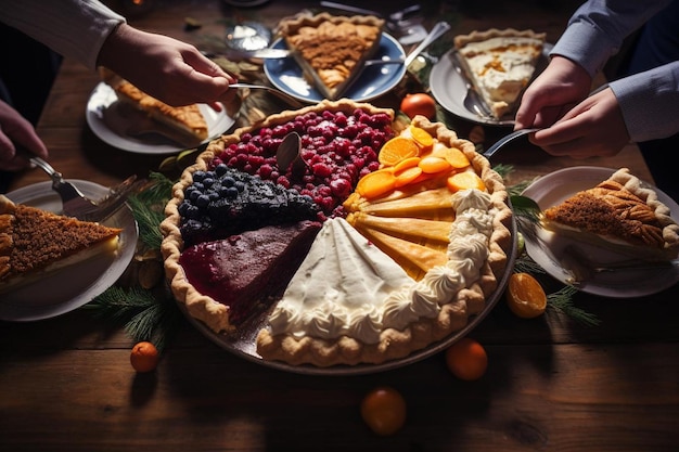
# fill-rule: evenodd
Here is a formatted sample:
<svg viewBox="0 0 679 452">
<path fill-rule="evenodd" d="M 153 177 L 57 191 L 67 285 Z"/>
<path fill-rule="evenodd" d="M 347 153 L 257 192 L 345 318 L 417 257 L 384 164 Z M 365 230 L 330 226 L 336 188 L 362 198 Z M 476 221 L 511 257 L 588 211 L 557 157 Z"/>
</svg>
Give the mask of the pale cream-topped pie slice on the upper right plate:
<svg viewBox="0 0 679 452">
<path fill-rule="evenodd" d="M 542 55 L 545 37 L 513 28 L 456 36 L 462 69 L 497 119 L 514 112 Z"/>
</svg>

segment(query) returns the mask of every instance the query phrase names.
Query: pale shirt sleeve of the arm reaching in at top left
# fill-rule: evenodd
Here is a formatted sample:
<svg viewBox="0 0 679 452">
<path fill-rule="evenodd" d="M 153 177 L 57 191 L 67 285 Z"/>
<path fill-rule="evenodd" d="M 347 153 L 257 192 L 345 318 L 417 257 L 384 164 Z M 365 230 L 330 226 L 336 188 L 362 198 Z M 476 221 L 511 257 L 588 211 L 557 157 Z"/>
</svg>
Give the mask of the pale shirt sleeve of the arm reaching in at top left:
<svg viewBox="0 0 679 452">
<path fill-rule="evenodd" d="M 0 21 L 91 69 L 125 17 L 97 0 L 0 0 Z"/>
</svg>

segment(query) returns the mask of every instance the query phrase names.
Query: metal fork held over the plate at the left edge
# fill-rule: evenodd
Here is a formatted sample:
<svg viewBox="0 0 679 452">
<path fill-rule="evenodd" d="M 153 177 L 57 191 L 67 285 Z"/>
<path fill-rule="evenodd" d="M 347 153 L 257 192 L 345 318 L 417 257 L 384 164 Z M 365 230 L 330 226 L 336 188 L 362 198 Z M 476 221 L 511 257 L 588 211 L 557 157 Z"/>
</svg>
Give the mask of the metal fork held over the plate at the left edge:
<svg viewBox="0 0 679 452">
<path fill-rule="evenodd" d="M 50 176 L 52 190 L 59 193 L 62 199 L 63 215 L 78 220 L 104 221 L 118 210 L 126 203 L 128 195 L 139 186 L 136 182 L 137 176 L 130 176 L 120 184 L 112 188 L 102 199 L 94 201 L 85 196 L 73 183 L 64 180 L 62 173 L 42 158 L 31 155 L 26 150 L 20 151 L 20 154 Z"/>
</svg>

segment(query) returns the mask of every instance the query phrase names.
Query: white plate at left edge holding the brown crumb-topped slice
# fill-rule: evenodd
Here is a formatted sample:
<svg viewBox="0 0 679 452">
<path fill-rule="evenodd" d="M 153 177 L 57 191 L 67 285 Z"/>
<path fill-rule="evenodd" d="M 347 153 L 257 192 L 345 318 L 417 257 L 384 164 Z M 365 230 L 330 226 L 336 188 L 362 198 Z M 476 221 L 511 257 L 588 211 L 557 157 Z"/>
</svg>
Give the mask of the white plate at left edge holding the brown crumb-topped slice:
<svg viewBox="0 0 679 452">
<path fill-rule="evenodd" d="M 93 182 L 71 180 L 86 196 L 101 198 L 108 189 Z M 8 193 L 14 203 L 21 203 L 57 212 L 62 208 L 59 195 L 49 181 L 36 183 Z M 128 206 L 120 208 L 103 224 L 121 228 L 118 254 L 99 256 L 66 268 L 38 283 L 3 294 L 0 299 L 0 319 L 35 321 L 73 311 L 89 302 L 113 285 L 125 272 L 137 248 L 137 221 Z"/>
</svg>

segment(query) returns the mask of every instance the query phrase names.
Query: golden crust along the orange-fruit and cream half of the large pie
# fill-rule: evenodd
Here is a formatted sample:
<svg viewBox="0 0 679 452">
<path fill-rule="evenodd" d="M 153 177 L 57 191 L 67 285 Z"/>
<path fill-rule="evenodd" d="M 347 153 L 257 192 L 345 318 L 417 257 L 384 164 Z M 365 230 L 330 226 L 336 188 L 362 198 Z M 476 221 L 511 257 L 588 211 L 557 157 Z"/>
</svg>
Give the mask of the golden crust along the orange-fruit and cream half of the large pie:
<svg viewBox="0 0 679 452">
<path fill-rule="evenodd" d="M 478 280 L 445 302 L 435 319 L 420 318 L 402 331 L 386 328 L 381 333 L 377 344 L 368 345 L 347 336 L 336 340 L 311 336 L 299 338 L 291 334 L 273 336 L 264 328 L 257 337 L 257 351 L 262 358 L 293 365 L 312 364 L 320 367 L 337 364 L 380 364 L 403 358 L 462 330 L 471 318 L 484 310 L 486 300 L 498 289 L 498 281 L 507 270 L 508 256 L 512 253 L 510 232 L 512 211 L 507 204 L 508 192 L 502 178 L 492 170 L 489 162 L 475 151 L 472 142 L 460 139 L 444 124 L 431 122 L 423 116 L 417 116 L 413 124 L 446 145 L 463 151 L 490 193 L 496 216 L 488 244 L 489 255 Z"/>
</svg>

